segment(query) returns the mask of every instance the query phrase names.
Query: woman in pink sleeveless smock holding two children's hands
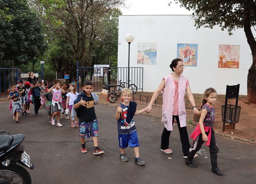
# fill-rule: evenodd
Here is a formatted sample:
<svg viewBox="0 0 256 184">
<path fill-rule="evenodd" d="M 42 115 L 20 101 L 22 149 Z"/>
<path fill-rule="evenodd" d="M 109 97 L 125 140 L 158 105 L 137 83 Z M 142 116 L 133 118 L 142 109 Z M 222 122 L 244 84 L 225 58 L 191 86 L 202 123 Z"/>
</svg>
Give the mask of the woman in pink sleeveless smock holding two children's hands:
<svg viewBox="0 0 256 184">
<path fill-rule="evenodd" d="M 174 121 L 177 122 L 180 132 L 180 139 L 182 143 L 183 157 L 187 158 L 188 150 L 190 148 L 188 133 L 186 128 L 186 109 L 184 95 L 187 93 L 190 103 L 193 105 L 194 113 L 198 111 L 194 96 L 190 90 L 188 80 L 183 73 L 184 65 L 181 59 L 174 59 L 170 64 L 173 73 L 163 78 L 159 87 L 152 96 L 146 111 L 149 113 L 152 110 L 152 105 L 157 96 L 162 91 L 163 105 L 162 105 L 162 122 L 165 123 L 161 136 L 161 151 L 165 153 L 172 153 L 169 149 L 169 138 L 172 131 Z M 198 156 L 197 154 L 195 157 Z"/>
</svg>

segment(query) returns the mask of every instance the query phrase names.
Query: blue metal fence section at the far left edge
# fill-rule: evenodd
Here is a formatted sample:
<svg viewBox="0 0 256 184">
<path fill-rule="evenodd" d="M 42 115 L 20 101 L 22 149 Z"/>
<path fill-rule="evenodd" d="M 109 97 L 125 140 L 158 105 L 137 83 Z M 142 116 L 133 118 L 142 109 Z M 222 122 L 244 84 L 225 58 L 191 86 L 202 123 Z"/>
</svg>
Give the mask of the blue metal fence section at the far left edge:
<svg viewBox="0 0 256 184">
<path fill-rule="evenodd" d="M 11 83 L 18 81 L 18 68 L 0 68 L 0 97 L 8 97 Z"/>
</svg>

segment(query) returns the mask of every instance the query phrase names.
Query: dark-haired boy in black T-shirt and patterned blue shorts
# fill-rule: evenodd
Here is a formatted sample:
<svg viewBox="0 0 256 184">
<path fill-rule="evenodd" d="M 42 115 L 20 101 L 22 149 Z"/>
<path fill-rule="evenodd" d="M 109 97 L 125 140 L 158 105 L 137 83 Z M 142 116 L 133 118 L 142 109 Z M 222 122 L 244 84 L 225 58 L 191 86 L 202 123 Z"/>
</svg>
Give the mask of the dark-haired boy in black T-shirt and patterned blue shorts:
<svg viewBox="0 0 256 184">
<path fill-rule="evenodd" d="M 104 154 L 104 151 L 98 147 L 99 142 L 99 130 L 98 121 L 95 114 L 94 105 L 98 104 L 98 95 L 92 93 L 93 82 L 86 80 L 84 82 L 83 92 L 80 93 L 74 101 L 74 109 L 76 110 L 76 116 L 79 118 L 80 140 L 81 140 L 81 152 L 86 153 L 85 137 L 89 138 L 93 136 L 94 143 L 94 155 Z"/>
</svg>

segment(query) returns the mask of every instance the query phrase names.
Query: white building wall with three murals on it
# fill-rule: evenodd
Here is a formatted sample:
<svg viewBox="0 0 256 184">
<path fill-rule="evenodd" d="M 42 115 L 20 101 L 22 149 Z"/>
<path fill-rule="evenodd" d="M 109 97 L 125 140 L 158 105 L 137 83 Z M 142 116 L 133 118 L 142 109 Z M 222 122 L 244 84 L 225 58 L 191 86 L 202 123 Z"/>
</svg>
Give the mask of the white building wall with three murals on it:
<svg viewBox="0 0 256 184">
<path fill-rule="evenodd" d="M 177 58 L 177 43 L 188 43 L 198 44 L 197 67 L 186 66 L 183 72 L 192 93 L 203 93 L 213 87 L 218 94 L 226 94 L 226 85 L 240 83 L 239 94 L 247 95 L 252 53 L 243 29 L 229 36 L 218 26 L 196 30 L 189 15 L 119 16 L 118 42 L 122 45 L 118 46 L 118 67 L 128 66 L 128 43 L 125 41 L 128 33 L 135 38 L 130 44 L 130 67 L 143 67 L 143 91 L 153 92 L 158 88 L 162 78 L 172 72 L 169 65 Z M 138 43 L 157 43 L 156 65 L 137 64 Z M 218 68 L 219 44 L 240 45 L 239 68 Z"/>
</svg>

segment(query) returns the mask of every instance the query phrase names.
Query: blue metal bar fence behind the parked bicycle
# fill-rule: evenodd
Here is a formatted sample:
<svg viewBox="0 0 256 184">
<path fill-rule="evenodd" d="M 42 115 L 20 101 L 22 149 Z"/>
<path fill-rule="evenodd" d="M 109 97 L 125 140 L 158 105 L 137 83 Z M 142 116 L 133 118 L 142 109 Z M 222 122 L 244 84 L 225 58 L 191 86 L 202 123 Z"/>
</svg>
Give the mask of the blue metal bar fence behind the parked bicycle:
<svg viewBox="0 0 256 184">
<path fill-rule="evenodd" d="M 103 70 L 103 67 L 77 67 L 77 91 L 83 91 L 82 87 L 85 80 L 91 80 L 94 83 L 94 91 L 103 90 L 103 74 L 97 71 Z M 110 84 L 118 85 L 118 81 L 128 83 L 128 67 L 111 67 Z M 143 91 L 143 67 L 130 67 L 130 82 L 137 86 L 138 90 Z M 126 84 L 127 85 L 127 84 Z"/>
</svg>

